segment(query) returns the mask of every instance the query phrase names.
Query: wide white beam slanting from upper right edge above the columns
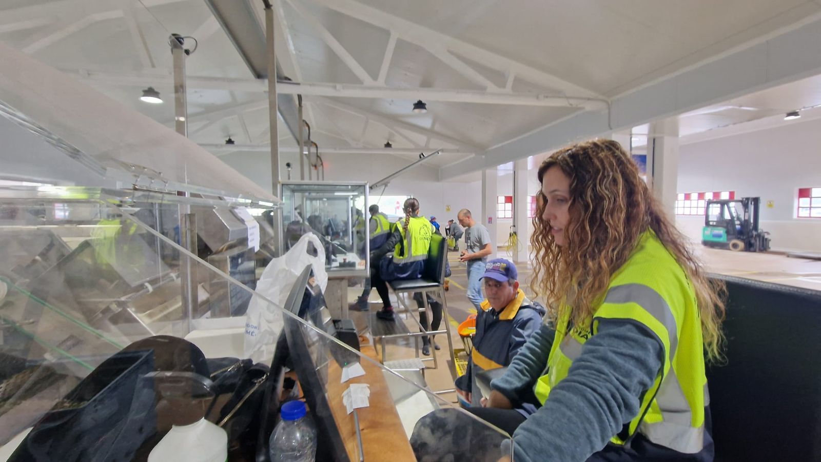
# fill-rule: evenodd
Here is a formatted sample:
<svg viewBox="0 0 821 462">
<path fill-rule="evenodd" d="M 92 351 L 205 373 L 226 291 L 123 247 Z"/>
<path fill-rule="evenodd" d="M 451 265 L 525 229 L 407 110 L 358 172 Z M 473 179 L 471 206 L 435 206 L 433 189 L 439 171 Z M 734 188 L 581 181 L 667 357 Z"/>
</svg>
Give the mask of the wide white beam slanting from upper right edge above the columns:
<svg viewBox="0 0 821 462">
<path fill-rule="evenodd" d="M 578 112 L 529 134 L 442 167 L 441 180 L 548 153 L 563 145 L 626 130 L 821 74 L 821 53 L 806 43 L 821 37 L 821 12 L 767 39 L 668 75 L 612 100 L 612 111 Z"/>
</svg>

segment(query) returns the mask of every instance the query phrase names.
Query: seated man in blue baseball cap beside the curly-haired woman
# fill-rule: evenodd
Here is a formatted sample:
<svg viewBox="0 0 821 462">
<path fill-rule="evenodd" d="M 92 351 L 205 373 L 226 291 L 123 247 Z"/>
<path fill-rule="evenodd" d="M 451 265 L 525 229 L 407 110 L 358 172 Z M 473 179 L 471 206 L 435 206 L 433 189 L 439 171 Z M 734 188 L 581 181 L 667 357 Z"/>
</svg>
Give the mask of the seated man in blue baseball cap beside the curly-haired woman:
<svg viewBox="0 0 821 462">
<path fill-rule="evenodd" d="M 481 280 L 485 300 L 476 314 L 473 351 L 467 372 L 456 379 L 456 393 L 463 405 L 484 405 L 475 374 L 511 364 L 522 345 L 542 324 L 546 310 L 525 297 L 519 288 L 518 276 L 516 265 L 505 258 L 496 258 L 484 265 Z M 536 411 L 534 405 L 522 406 L 524 409 L 519 411 L 525 416 Z"/>
</svg>

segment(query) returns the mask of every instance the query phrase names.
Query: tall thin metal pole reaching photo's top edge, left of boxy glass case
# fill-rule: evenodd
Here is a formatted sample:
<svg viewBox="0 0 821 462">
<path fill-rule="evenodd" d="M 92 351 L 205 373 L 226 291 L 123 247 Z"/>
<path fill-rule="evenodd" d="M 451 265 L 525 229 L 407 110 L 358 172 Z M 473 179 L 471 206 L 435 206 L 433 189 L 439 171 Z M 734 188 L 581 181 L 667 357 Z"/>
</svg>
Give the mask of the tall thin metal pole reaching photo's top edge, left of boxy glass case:
<svg viewBox="0 0 821 462">
<path fill-rule="evenodd" d="M 277 54 L 273 48 L 273 7 L 265 2 L 265 42 L 268 44 L 268 124 L 271 127 L 271 183 L 273 195 L 282 197 L 279 175 L 279 132 L 277 126 Z M 302 121 L 300 120 L 300 124 Z M 282 254 L 282 208 L 273 214 L 273 235 L 277 255 Z"/>
</svg>

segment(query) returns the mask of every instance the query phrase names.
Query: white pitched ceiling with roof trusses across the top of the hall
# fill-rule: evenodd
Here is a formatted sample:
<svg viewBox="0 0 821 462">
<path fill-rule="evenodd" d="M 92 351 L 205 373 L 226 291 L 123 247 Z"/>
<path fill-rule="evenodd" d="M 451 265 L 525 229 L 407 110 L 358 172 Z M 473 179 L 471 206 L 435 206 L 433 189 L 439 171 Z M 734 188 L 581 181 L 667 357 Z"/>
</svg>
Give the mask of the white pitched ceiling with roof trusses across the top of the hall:
<svg viewBox="0 0 821 462">
<path fill-rule="evenodd" d="M 261 19 L 261 2 L 247 1 Z M 314 140 L 326 149 L 382 148 L 391 140 L 397 149 L 463 152 L 433 159 L 438 166 L 466 158 L 465 152 L 481 153 L 521 139 L 581 110 L 581 103 L 557 97 L 631 94 L 649 82 L 821 18 L 821 2 L 809 0 L 276 3 L 275 11 L 284 15 L 276 27 L 287 25 L 277 36 L 277 56 L 287 75 L 304 84 L 331 84 L 322 96 L 305 96 Z M 222 85 L 189 86 L 191 139 L 219 144 L 231 135 L 237 143 L 264 143 L 266 94 L 261 85 L 248 91 L 250 71 L 202 0 L 0 2 L 0 40 L 81 80 L 82 70 L 108 73 L 108 78 L 89 77 L 86 83 L 166 125 L 173 120 L 171 32 L 199 40 L 186 59 L 187 75 Z M 395 45 L 383 69 L 392 37 Z M 334 51 L 335 43 L 342 49 Z M 154 67 L 146 66 L 146 56 Z M 378 81 L 382 70 L 384 86 Z M 139 81 L 123 85 L 117 75 L 136 75 Z M 203 81 L 208 79 L 200 85 Z M 242 91 L 232 90 L 235 81 Z M 166 103 L 151 106 L 137 100 L 149 85 Z M 401 94 L 400 89 L 413 93 Z M 428 112 L 416 114 L 411 112 L 415 89 L 431 90 L 431 98 L 445 100 L 426 99 Z M 366 90 L 393 91 L 401 98 L 362 97 Z M 357 91 L 361 93 L 351 97 Z M 467 103 L 466 95 L 479 95 L 482 102 Z M 491 101 L 500 95 L 510 99 Z M 683 115 L 680 132 L 715 130 L 819 103 L 821 79 L 801 80 Z M 607 109 L 607 101 L 598 104 L 593 110 Z M 393 155 L 412 161 L 415 154 Z"/>
</svg>

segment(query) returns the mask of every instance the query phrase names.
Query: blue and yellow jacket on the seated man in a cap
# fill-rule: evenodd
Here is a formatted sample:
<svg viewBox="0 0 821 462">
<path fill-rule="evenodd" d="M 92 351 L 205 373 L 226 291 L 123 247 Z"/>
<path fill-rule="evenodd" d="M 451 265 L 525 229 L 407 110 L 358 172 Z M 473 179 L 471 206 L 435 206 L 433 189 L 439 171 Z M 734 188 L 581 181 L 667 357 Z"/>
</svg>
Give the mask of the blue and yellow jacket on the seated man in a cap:
<svg viewBox="0 0 821 462">
<path fill-rule="evenodd" d="M 516 298 L 502 311 L 496 311 L 488 300 L 481 304 L 482 311 L 476 314 L 476 333 L 473 337 L 473 352 L 467 364 L 465 375 L 456 379 L 456 388 L 470 391 L 471 405 L 478 406 L 482 397 L 476 385 L 475 373 L 483 370 L 506 367 L 527 343 L 530 336 L 539 330 L 546 310 L 534 304 L 525 292 L 519 289 Z M 518 409 L 523 414 L 533 414 L 534 405 L 523 405 Z M 532 408 L 532 409 L 531 409 Z"/>
</svg>

